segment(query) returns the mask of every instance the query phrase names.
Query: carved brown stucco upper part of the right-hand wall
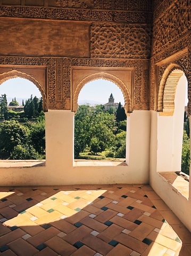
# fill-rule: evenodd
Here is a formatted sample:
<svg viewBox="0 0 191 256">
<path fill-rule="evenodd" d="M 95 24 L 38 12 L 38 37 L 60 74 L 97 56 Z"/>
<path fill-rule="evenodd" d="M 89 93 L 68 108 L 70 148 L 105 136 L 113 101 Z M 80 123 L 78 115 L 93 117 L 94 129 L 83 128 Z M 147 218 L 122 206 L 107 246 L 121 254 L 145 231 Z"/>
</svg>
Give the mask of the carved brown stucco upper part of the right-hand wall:
<svg viewBox="0 0 191 256">
<path fill-rule="evenodd" d="M 187 77 L 188 112 L 191 112 L 190 6 L 190 0 L 155 0 L 154 2 L 153 48 L 150 61 L 151 110 L 159 110 L 157 105 L 161 100 L 161 92 L 159 94 L 161 79 L 168 67 L 173 67 L 174 64 Z M 169 72 L 172 70 L 173 68 Z"/>
</svg>

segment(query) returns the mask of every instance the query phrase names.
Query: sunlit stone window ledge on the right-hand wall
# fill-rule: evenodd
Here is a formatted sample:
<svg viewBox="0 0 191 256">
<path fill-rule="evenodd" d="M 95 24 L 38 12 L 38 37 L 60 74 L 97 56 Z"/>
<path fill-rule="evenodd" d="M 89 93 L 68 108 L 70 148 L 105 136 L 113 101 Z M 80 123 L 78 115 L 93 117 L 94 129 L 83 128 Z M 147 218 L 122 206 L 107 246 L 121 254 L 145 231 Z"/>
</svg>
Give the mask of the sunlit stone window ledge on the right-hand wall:
<svg viewBox="0 0 191 256">
<path fill-rule="evenodd" d="M 180 172 L 159 172 L 159 175 L 162 176 L 163 180 L 167 181 L 172 185 L 172 187 L 180 192 L 187 199 L 189 198 L 189 181 L 188 175 Z"/>
</svg>

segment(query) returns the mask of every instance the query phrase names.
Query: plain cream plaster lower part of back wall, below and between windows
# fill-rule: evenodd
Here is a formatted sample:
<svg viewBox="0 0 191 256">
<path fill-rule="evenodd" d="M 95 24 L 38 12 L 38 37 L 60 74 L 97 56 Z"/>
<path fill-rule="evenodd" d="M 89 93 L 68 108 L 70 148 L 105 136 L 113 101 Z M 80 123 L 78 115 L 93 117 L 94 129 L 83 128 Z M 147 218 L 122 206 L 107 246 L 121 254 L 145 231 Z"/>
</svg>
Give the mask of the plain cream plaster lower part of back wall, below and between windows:
<svg viewBox="0 0 191 256">
<path fill-rule="evenodd" d="M 148 183 L 150 111 L 130 114 L 128 166 L 73 166 L 73 118 L 71 111 L 45 113 L 46 166 L 0 168 L 0 185 Z"/>
</svg>

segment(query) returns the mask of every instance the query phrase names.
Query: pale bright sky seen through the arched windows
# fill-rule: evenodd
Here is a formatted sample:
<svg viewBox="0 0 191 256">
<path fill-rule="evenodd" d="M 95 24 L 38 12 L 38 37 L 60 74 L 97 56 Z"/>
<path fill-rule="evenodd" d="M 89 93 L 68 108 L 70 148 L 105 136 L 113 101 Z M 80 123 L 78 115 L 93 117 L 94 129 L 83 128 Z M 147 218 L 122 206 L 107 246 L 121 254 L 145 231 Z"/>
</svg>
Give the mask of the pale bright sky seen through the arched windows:
<svg viewBox="0 0 191 256">
<path fill-rule="evenodd" d="M 182 77 L 182 79 L 184 78 Z M 124 97 L 119 87 L 113 82 L 103 79 L 97 79 L 85 84 L 80 91 L 78 102 L 84 101 L 88 103 L 88 100 L 90 100 L 95 101 L 96 104 L 105 104 L 108 102 L 111 93 L 113 94 L 114 102 L 121 102 L 121 104 L 124 106 Z M 30 98 L 31 94 L 33 97 L 41 97 L 40 91 L 34 83 L 20 77 L 6 80 L 0 84 L 0 95 L 2 94 L 6 94 L 6 97 L 11 98 L 11 100 L 12 98 L 20 98 L 21 100 L 18 100 L 20 104 L 22 104 L 22 99 Z M 9 104 L 8 99 L 7 102 Z M 186 93 L 185 105 L 187 105 L 187 103 L 188 96 Z"/>
</svg>

